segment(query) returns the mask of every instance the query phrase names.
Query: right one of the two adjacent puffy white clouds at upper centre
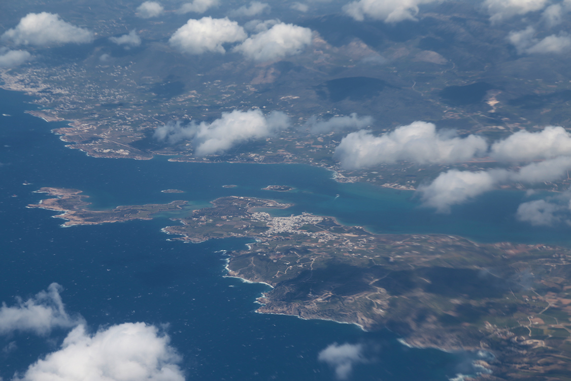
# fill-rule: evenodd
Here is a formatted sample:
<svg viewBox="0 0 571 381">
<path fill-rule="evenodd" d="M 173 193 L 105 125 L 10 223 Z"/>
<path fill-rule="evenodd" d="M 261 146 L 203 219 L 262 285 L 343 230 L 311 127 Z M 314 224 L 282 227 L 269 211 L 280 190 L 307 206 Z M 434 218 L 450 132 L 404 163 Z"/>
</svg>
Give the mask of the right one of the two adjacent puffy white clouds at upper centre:
<svg viewBox="0 0 571 381">
<path fill-rule="evenodd" d="M 260 32 L 234 47 L 234 51 L 255 61 L 270 61 L 299 54 L 311 44 L 312 32 L 309 28 L 279 23 L 269 30 Z"/>
</svg>

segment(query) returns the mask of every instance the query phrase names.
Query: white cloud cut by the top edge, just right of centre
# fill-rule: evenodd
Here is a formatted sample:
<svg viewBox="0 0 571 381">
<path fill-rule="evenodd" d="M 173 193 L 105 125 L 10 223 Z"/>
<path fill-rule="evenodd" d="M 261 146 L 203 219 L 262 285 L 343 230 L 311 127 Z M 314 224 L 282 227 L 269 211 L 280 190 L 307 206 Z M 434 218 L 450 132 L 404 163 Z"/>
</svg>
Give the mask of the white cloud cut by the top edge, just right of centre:
<svg viewBox="0 0 571 381">
<path fill-rule="evenodd" d="M 359 0 L 345 5 L 343 11 L 357 21 L 372 18 L 385 22 L 399 22 L 416 20 L 419 5 L 436 1 L 441 0 Z"/>
</svg>

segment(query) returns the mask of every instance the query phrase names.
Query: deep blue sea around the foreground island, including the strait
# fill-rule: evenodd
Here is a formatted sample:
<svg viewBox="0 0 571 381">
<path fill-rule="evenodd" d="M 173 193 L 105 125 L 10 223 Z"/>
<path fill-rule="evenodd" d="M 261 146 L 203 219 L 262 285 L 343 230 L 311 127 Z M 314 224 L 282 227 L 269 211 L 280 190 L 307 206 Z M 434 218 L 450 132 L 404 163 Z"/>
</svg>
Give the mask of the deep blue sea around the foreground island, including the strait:
<svg viewBox="0 0 571 381">
<path fill-rule="evenodd" d="M 47 123 L 23 113 L 31 98 L 0 90 L 0 302 L 28 298 L 52 282 L 61 284 L 69 312 L 95 331 L 125 322 L 168 324 L 171 344 L 183 356 L 187 380 L 333 380 L 317 355 L 332 343 L 363 344 L 366 363 L 351 379 L 447 380 L 471 371 L 472 354 L 419 350 L 391 332 L 363 332 L 350 324 L 255 313 L 267 290 L 224 278 L 220 250 L 247 239 L 200 244 L 168 242 L 170 221 L 62 228 L 54 212 L 26 208 L 40 187 L 71 187 L 90 195 L 95 208 L 187 199 L 205 206 L 224 195 L 258 196 L 295 203 L 284 214 L 313 212 L 378 232 L 445 233 L 481 242 L 569 243 L 569 228 L 538 229 L 517 223 L 522 192 L 491 192 L 450 215 L 422 208 L 413 192 L 340 184 L 326 170 L 303 165 L 239 165 L 100 159 L 67 149 Z M 23 185 L 23 183 L 31 185 Z M 228 189 L 223 185 L 237 185 Z M 263 191 L 289 185 L 292 192 Z M 163 189 L 184 190 L 164 194 Z M 338 197 L 336 197 L 339 195 Z M 67 331 L 48 337 L 0 336 L 0 377 L 13 378 L 55 351 Z M 11 343 L 15 350 L 6 351 Z M 14 346 L 12 346 L 14 347 Z"/>
</svg>

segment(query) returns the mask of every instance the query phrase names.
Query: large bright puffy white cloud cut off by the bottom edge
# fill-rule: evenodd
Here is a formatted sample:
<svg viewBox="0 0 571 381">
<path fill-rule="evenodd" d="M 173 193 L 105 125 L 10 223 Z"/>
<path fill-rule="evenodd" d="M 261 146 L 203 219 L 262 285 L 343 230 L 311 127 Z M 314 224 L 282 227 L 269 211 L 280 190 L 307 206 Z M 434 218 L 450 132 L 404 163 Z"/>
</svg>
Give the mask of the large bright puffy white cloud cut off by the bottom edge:
<svg viewBox="0 0 571 381">
<path fill-rule="evenodd" d="M 80 325 L 61 348 L 32 364 L 14 381 L 184 381 L 170 338 L 145 323 L 124 323 L 94 335 Z"/>
</svg>

